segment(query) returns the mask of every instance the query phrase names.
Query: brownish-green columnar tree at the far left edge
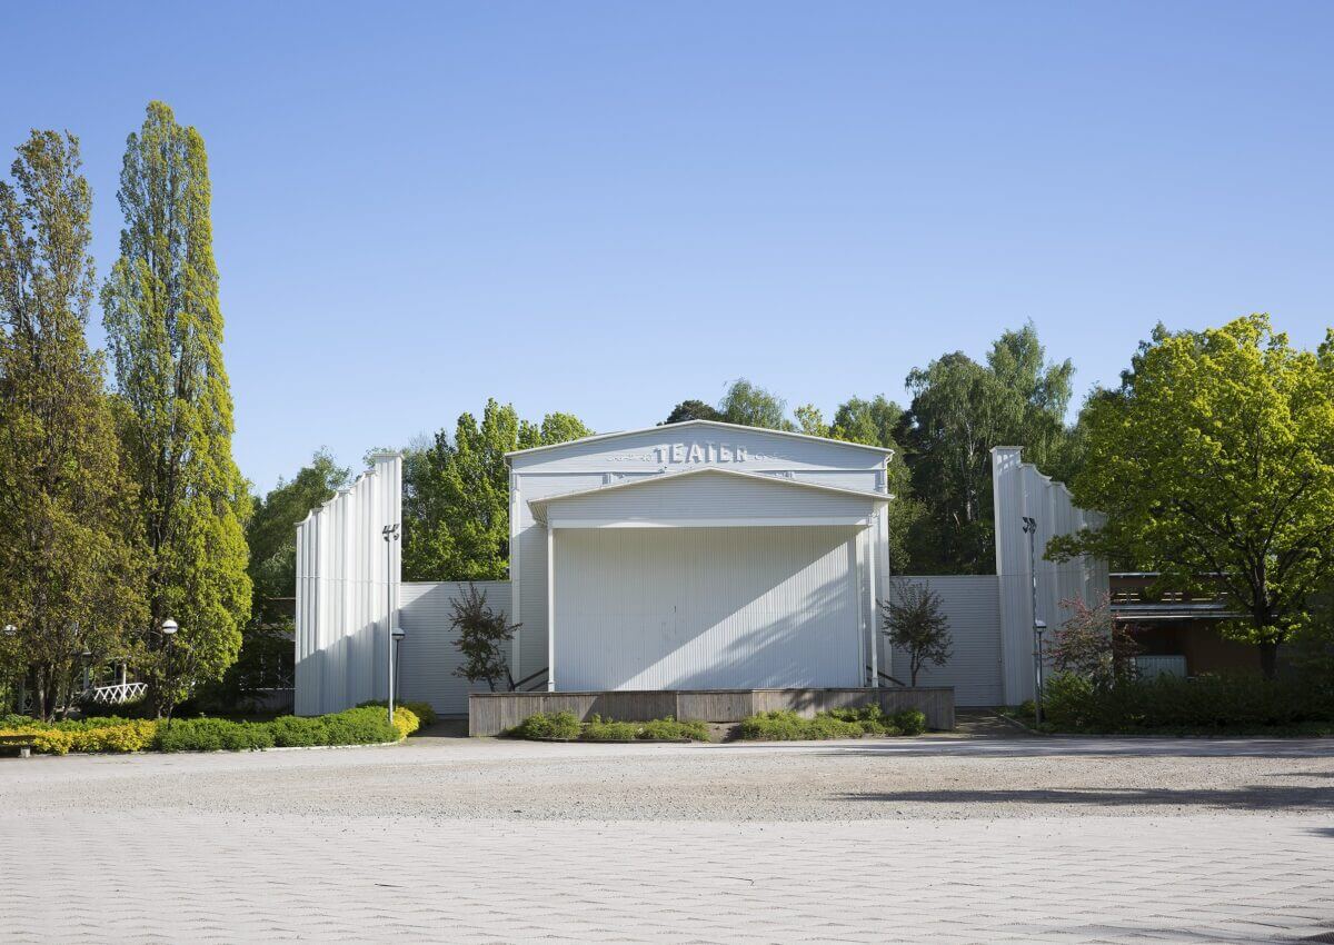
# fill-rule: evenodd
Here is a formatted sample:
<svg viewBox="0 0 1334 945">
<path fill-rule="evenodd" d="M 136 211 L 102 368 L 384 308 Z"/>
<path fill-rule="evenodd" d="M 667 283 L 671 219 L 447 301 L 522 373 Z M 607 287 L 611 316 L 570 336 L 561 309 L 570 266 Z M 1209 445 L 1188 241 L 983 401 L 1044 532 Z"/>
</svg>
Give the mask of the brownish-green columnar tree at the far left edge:
<svg viewBox="0 0 1334 945">
<path fill-rule="evenodd" d="M 92 191 L 72 135 L 33 131 L 0 182 L 0 625 L 35 711 L 64 701 L 85 650 L 129 649 L 143 621 L 140 547 L 101 355 Z"/>
</svg>

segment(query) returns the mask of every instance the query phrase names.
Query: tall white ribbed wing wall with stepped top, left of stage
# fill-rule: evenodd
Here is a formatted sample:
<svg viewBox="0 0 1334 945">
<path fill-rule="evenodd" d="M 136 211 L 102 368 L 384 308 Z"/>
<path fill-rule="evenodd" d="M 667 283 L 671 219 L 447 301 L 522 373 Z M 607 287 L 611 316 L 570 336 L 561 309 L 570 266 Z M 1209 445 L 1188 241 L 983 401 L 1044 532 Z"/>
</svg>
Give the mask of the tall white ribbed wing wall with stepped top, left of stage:
<svg viewBox="0 0 1334 945">
<path fill-rule="evenodd" d="M 375 467 L 296 526 L 296 698 L 299 715 L 348 709 L 388 695 L 390 615 L 398 607 L 403 458 Z"/>
</svg>

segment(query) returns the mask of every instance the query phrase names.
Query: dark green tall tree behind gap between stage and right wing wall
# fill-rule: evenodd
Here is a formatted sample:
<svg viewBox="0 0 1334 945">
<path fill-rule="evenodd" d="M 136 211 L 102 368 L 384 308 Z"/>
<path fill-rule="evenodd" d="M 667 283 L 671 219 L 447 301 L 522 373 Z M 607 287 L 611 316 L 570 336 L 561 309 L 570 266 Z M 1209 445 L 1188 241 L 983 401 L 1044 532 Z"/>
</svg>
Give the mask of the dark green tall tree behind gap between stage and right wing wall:
<svg viewBox="0 0 1334 945">
<path fill-rule="evenodd" d="M 1069 360 L 1045 360 L 1031 324 L 1006 331 L 986 364 L 955 351 L 908 374 L 912 403 L 900 439 L 924 507 L 911 539 L 914 567 L 994 573 L 991 447 L 1021 446 L 1050 474 L 1069 455 L 1073 374 Z"/>
</svg>

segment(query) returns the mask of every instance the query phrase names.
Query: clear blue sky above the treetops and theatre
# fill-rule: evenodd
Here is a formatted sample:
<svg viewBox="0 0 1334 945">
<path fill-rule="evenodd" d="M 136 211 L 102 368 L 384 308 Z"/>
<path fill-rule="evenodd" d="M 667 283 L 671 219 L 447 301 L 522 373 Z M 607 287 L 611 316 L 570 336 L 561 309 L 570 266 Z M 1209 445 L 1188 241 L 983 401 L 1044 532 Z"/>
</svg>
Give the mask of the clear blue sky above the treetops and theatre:
<svg viewBox="0 0 1334 945">
<path fill-rule="evenodd" d="M 52 3 L 4 32 L 0 139 L 83 139 L 100 274 L 147 101 L 203 132 L 260 489 L 488 395 L 607 431 L 747 376 L 828 414 L 1031 319 L 1082 396 L 1158 320 L 1334 322 L 1330 3 Z"/>
</svg>

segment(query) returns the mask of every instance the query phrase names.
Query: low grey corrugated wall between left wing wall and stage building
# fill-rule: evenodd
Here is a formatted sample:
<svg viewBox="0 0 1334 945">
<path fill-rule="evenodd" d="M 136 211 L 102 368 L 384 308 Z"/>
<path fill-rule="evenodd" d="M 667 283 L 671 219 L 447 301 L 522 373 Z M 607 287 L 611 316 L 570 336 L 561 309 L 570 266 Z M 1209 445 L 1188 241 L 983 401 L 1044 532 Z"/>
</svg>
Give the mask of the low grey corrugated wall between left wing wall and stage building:
<svg viewBox="0 0 1334 945">
<path fill-rule="evenodd" d="M 488 691 L 486 683 L 470 686 L 454 671 L 462 665 L 458 634 L 450 621 L 452 602 L 466 590 L 467 582 L 407 582 L 400 587 L 399 625 L 407 631 L 399 653 L 400 699 L 430 702 L 438 713 L 463 715 L 468 711 L 468 693 Z M 495 610 L 510 610 L 508 581 L 479 581 L 476 589 L 487 595 Z"/>
</svg>

